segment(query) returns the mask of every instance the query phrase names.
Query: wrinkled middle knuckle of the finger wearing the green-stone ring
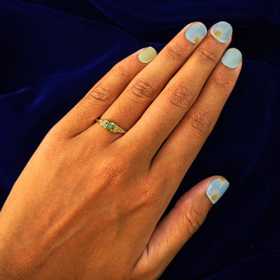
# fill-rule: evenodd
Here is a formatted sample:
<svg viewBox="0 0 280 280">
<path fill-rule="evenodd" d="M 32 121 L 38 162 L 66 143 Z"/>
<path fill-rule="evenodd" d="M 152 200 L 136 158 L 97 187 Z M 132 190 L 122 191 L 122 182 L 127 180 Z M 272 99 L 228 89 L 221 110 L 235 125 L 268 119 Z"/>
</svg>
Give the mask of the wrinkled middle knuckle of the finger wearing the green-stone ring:
<svg viewBox="0 0 280 280">
<path fill-rule="evenodd" d="M 155 96 L 155 81 L 152 78 L 142 77 L 133 83 L 130 87 L 130 92 L 132 93 L 133 98 L 137 97 L 138 99 L 153 99 Z"/>
</svg>

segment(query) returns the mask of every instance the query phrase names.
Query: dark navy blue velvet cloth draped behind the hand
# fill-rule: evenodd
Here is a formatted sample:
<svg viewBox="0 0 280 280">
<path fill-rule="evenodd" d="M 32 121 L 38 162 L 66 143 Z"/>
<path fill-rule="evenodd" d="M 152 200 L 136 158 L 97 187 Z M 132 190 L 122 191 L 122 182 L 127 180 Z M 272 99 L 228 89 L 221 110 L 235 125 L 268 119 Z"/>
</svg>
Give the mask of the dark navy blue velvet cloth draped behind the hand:
<svg viewBox="0 0 280 280">
<path fill-rule="evenodd" d="M 280 1 L 0 0 L 1 205 L 52 125 L 116 62 L 159 52 L 197 20 L 230 22 L 244 64 L 170 207 L 207 176 L 230 188 L 160 279 L 280 279 Z"/>
</svg>

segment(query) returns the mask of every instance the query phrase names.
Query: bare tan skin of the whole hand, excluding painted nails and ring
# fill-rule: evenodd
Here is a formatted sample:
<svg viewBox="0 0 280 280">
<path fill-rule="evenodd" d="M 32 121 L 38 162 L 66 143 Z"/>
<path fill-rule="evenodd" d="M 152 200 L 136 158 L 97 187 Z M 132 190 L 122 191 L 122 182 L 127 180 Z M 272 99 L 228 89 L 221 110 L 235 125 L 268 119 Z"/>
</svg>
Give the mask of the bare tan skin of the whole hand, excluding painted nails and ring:
<svg viewBox="0 0 280 280">
<path fill-rule="evenodd" d="M 148 64 L 140 50 L 118 62 L 45 136 L 0 212 L 0 279 L 158 279 L 200 228 L 212 207 L 207 187 L 222 176 L 188 190 L 158 221 L 241 63 L 221 63 L 231 38 L 208 31 L 190 43 L 190 25 Z"/>
</svg>

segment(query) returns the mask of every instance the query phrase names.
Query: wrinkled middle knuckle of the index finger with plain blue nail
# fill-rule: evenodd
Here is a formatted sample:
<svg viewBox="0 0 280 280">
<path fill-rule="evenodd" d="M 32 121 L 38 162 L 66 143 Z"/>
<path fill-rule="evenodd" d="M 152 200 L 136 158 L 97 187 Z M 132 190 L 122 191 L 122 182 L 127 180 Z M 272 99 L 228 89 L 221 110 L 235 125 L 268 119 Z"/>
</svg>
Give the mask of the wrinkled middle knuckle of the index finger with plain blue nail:
<svg viewBox="0 0 280 280">
<path fill-rule="evenodd" d="M 209 111 L 204 109 L 194 110 L 189 115 L 190 126 L 199 134 L 208 134 L 214 120 Z"/>
</svg>

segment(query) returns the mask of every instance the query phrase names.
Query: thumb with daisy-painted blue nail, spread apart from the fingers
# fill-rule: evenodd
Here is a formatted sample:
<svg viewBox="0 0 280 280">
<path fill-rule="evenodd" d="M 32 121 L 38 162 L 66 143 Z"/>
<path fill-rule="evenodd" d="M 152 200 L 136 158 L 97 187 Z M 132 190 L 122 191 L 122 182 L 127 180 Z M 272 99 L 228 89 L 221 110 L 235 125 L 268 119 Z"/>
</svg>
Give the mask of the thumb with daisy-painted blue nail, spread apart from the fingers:
<svg viewBox="0 0 280 280">
<path fill-rule="evenodd" d="M 155 228 L 145 251 L 134 266 L 143 279 L 158 279 L 176 253 L 200 228 L 212 205 L 229 183 L 222 176 L 212 176 L 188 190 Z"/>
</svg>

